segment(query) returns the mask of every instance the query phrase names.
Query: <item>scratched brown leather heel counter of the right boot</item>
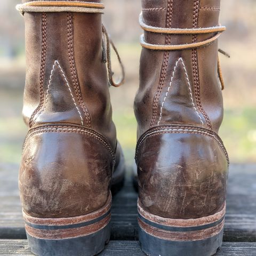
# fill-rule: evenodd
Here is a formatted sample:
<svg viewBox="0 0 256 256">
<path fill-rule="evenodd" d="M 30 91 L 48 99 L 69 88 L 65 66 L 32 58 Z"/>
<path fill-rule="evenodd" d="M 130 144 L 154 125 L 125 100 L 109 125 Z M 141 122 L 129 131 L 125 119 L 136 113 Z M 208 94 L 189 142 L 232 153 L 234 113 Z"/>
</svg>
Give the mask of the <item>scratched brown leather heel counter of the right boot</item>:
<svg viewBox="0 0 256 256">
<path fill-rule="evenodd" d="M 203 129 L 198 133 L 189 133 L 192 129 L 188 128 L 184 133 L 170 127 L 162 130 L 153 131 L 137 146 L 143 207 L 173 219 L 201 218 L 220 211 L 225 204 L 228 172 L 220 142 Z"/>
</svg>

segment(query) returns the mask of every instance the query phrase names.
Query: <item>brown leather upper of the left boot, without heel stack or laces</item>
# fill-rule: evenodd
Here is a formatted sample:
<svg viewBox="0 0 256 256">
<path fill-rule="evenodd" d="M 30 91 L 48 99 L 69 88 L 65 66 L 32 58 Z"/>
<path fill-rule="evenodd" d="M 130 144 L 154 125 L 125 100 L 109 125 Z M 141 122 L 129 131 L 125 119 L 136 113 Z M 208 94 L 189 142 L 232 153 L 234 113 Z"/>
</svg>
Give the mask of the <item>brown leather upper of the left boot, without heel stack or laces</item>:
<svg viewBox="0 0 256 256">
<path fill-rule="evenodd" d="M 113 170 L 123 165 L 101 14 L 50 10 L 25 12 L 24 18 L 23 117 L 30 130 L 19 177 L 23 210 L 39 218 L 85 215 L 105 205 Z"/>
</svg>

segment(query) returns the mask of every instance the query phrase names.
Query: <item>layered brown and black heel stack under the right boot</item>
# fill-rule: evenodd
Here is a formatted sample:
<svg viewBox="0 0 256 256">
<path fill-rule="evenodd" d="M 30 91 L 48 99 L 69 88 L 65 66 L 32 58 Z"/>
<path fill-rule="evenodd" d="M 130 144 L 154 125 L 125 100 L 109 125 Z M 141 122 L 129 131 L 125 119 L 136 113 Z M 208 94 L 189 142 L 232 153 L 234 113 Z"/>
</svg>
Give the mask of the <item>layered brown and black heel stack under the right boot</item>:
<svg viewBox="0 0 256 256">
<path fill-rule="evenodd" d="M 212 256 L 222 244 L 225 209 L 198 219 L 167 219 L 138 202 L 141 249 L 150 256 Z"/>
</svg>

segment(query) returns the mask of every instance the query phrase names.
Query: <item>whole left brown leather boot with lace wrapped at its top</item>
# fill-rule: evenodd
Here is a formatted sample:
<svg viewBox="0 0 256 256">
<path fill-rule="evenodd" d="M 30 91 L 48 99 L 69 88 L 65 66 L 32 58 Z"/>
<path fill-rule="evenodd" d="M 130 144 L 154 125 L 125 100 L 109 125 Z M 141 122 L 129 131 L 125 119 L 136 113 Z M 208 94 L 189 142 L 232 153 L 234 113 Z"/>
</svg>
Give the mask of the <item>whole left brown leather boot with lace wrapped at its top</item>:
<svg viewBox="0 0 256 256">
<path fill-rule="evenodd" d="M 122 81 L 111 77 L 103 5 L 23 1 L 18 9 L 29 126 L 19 188 L 29 246 L 37 255 L 95 255 L 110 237 L 110 182 L 124 178 L 108 89 Z"/>
</svg>

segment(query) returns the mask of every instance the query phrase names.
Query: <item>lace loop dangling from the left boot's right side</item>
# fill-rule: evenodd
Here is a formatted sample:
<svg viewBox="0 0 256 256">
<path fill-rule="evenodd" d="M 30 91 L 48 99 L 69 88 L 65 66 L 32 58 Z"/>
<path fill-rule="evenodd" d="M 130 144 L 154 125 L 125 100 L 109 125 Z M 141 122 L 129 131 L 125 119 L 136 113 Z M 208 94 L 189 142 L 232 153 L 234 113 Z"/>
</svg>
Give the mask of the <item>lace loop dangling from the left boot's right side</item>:
<svg viewBox="0 0 256 256">
<path fill-rule="evenodd" d="M 103 25 L 102 25 L 102 33 L 103 33 L 102 61 L 103 61 L 103 63 L 107 63 L 108 81 L 109 81 L 110 85 L 112 85 L 114 87 L 119 87 L 124 83 L 124 77 L 125 77 L 124 65 L 123 65 L 120 55 L 116 49 L 116 46 L 114 45 L 113 41 L 109 38 L 107 30 Z M 111 69 L 111 54 L 110 54 L 111 46 L 116 53 L 119 65 L 122 70 L 122 76 L 117 81 L 114 81 L 114 78 L 113 78 L 114 73 L 112 72 L 112 69 Z"/>
</svg>

